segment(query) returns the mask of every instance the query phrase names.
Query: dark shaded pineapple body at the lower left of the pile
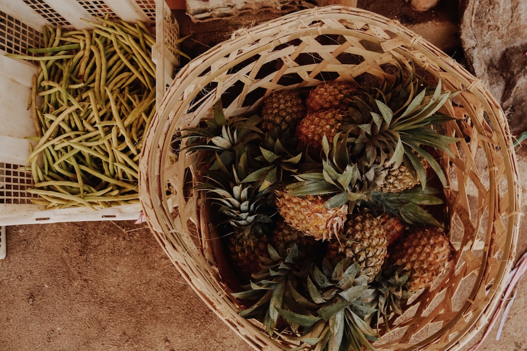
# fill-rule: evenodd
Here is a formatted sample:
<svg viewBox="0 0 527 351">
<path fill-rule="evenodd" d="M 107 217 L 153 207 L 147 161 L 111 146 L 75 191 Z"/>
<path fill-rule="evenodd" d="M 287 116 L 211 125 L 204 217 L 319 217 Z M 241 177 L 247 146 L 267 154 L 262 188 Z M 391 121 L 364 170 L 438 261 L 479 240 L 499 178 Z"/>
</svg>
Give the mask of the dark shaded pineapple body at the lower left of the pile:
<svg viewBox="0 0 527 351">
<path fill-rule="evenodd" d="M 227 248 L 233 268 L 242 278 L 249 279 L 260 269 L 260 257 L 269 257 L 269 238 L 248 230 L 236 230 L 228 237 Z"/>
</svg>

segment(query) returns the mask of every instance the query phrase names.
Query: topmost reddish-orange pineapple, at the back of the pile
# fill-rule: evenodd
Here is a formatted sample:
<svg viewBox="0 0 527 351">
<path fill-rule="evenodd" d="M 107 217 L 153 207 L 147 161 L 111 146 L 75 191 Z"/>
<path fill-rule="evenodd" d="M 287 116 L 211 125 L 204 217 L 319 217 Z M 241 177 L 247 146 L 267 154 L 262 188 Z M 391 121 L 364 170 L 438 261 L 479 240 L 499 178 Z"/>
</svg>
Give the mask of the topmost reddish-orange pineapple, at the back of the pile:
<svg viewBox="0 0 527 351">
<path fill-rule="evenodd" d="M 362 89 L 353 82 L 327 82 L 311 89 L 306 99 L 307 112 L 347 109 Z"/>
</svg>

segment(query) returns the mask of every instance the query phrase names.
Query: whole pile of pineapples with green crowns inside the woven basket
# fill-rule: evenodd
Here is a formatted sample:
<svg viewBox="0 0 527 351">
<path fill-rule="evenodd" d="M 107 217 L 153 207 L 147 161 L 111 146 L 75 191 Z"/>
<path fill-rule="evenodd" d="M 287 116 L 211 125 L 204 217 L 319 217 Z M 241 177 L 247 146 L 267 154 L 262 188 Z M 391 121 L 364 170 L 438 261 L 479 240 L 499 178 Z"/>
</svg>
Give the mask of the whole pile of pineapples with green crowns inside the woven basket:
<svg viewBox="0 0 527 351">
<path fill-rule="evenodd" d="M 241 314 L 298 350 L 374 349 L 453 257 L 436 158 L 456 142 L 438 132 L 455 92 L 414 68 L 387 72 L 277 91 L 251 116 L 217 103 L 179 137 L 242 280 L 234 295 L 255 301 Z"/>
</svg>

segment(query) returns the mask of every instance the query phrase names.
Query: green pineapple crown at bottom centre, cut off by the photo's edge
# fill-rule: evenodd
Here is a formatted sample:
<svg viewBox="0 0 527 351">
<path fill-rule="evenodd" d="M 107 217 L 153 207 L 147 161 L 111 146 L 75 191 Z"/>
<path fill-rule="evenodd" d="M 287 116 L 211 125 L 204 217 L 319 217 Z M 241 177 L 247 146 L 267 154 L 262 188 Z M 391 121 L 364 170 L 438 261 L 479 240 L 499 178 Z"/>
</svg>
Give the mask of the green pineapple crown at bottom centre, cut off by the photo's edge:
<svg viewBox="0 0 527 351">
<path fill-rule="evenodd" d="M 370 341 L 376 340 L 376 330 L 366 322 L 376 312 L 370 307 L 373 290 L 368 288 L 367 279 L 360 275 L 358 264 L 349 265 L 343 260 L 331 269 L 323 263 L 320 270 L 314 266 L 307 280 L 311 305 L 304 314 L 279 309 L 288 321 L 304 327 L 299 339 L 308 350 L 340 351 L 375 348 Z"/>
</svg>

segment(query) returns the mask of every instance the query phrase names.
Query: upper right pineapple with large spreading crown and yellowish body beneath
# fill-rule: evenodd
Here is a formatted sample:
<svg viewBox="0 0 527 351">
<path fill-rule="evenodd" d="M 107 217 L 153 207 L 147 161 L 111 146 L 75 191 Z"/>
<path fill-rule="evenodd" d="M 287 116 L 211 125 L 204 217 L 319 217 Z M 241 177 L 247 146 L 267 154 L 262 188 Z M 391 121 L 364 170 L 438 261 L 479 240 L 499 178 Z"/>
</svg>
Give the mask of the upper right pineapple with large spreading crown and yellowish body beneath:
<svg viewBox="0 0 527 351">
<path fill-rule="evenodd" d="M 457 139 L 436 132 L 432 126 L 452 120 L 437 111 L 456 93 L 442 92 L 441 81 L 432 90 L 421 87 L 421 82 L 415 74 L 401 73 L 395 86 L 363 94 L 349 110 L 351 157 L 385 168 L 383 192 L 417 184 L 424 188 L 428 168 L 446 186 L 441 166 L 425 148 L 452 154 L 449 144 Z"/>
</svg>

